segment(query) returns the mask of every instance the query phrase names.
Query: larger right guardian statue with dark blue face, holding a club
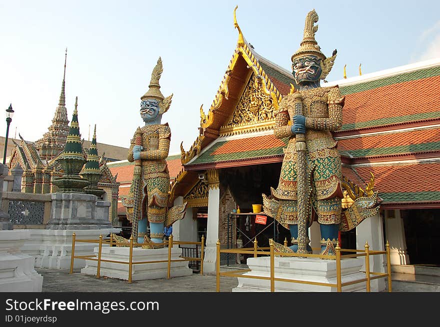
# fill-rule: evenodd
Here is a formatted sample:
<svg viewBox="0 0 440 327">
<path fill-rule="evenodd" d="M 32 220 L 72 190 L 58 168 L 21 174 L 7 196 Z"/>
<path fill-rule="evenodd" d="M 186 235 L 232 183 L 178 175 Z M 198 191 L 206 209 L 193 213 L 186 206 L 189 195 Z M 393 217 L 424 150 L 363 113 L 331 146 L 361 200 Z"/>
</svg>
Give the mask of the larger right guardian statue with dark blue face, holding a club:
<svg viewBox="0 0 440 327">
<path fill-rule="evenodd" d="M 342 124 L 344 97 L 337 85 L 320 86 L 336 50 L 328 58 L 320 51 L 314 38 L 317 20 L 314 9 L 308 12 L 303 39 L 291 57 L 294 85 L 278 106 L 273 128 L 275 137 L 289 141 L 278 186 L 262 197 L 264 212 L 290 230 L 290 251 L 311 253 L 307 228 L 316 220 L 320 254 L 333 255 L 339 230 L 352 229 L 377 213 L 377 192 L 356 199 L 342 212 L 341 161 L 332 132 Z"/>
</svg>

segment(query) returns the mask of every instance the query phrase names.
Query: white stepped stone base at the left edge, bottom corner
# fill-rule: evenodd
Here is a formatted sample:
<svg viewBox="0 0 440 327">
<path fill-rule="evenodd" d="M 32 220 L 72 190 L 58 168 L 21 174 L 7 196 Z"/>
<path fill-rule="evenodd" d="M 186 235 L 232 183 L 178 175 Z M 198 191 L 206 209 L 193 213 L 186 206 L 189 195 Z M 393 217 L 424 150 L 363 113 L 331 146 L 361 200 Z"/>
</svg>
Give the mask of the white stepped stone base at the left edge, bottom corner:
<svg viewBox="0 0 440 327">
<path fill-rule="evenodd" d="M 29 237 L 25 230 L 0 231 L 0 292 L 41 292 L 43 277 L 33 268 L 34 258 L 20 251 Z"/>
</svg>

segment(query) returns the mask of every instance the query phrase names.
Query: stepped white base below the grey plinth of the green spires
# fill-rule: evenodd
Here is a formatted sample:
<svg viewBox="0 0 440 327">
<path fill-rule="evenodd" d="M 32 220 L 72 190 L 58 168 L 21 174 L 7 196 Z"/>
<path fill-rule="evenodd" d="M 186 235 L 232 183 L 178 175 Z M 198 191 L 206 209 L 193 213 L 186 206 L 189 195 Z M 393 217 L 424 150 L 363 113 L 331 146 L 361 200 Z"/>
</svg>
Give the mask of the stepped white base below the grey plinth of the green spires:
<svg viewBox="0 0 440 327">
<path fill-rule="evenodd" d="M 105 238 L 110 233 L 119 233 L 118 228 L 105 229 L 80 229 L 80 230 L 48 230 L 30 229 L 23 230 L 30 233 L 30 239 L 24 242 L 21 251 L 35 258 L 36 268 L 68 269 L 72 254 L 72 234 L 75 232 L 76 240 L 99 240 L 99 235 Z M 75 243 L 75 256 L 93 255 L 97 243 Z M 107 247 L 103 244 L 102 247 Z M 73 268 L 85 267 L 85 260 L 75 259 Z"/>
</svg>

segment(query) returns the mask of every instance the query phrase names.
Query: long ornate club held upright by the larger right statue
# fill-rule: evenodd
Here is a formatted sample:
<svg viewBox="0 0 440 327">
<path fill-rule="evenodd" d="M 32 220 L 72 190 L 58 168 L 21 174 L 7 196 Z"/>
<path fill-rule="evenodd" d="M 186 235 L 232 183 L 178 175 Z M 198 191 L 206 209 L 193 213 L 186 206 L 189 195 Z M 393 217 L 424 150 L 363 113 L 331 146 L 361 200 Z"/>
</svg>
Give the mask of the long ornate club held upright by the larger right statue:
<svg viewBox="0 0 440 327">
<path fill-rule="evenodd" d="M 302 115 L 302 95 L 299 91 L 294 93 L 295 114 Z M 305 134 L 296 134 L 295 149 L 296 181 L 297 181 L 297 208 L 298 208 L 298 251 L 296 253 L 307 253 L 307 187 L 305 176 Z"/>
</svg>

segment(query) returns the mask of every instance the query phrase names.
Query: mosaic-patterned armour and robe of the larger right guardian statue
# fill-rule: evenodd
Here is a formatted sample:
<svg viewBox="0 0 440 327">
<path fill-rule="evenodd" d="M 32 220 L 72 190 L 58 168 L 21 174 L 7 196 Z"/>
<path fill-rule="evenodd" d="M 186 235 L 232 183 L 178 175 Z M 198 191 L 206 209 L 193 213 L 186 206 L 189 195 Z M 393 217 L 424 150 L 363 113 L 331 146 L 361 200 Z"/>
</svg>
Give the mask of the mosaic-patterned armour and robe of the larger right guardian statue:
<svg viewBox="0 0 440 327">
<path fill-rule="evenodd" d="M 342 190 L 341 162 L 337 141 L 331 131 L 339 129 L 342 123 L 344 97 L 338 86 L 318 87 L 300 91 L 305 119 L 306 195 L 308 224 L 317 218 L 320 224 L 339 224 Z M 274 135 L 289 137 L 284 150 L 278 187 L 271 188 L 272 196 L 281 200 L 283 218 L 286 224 L 297 224 L 297 181 L 295 135 L 288 124 L 295 114 L 293 95 L 285 96 L 276 115 Z M 316 217 L 317 216 L 317 217 Z"/>
</svg>

